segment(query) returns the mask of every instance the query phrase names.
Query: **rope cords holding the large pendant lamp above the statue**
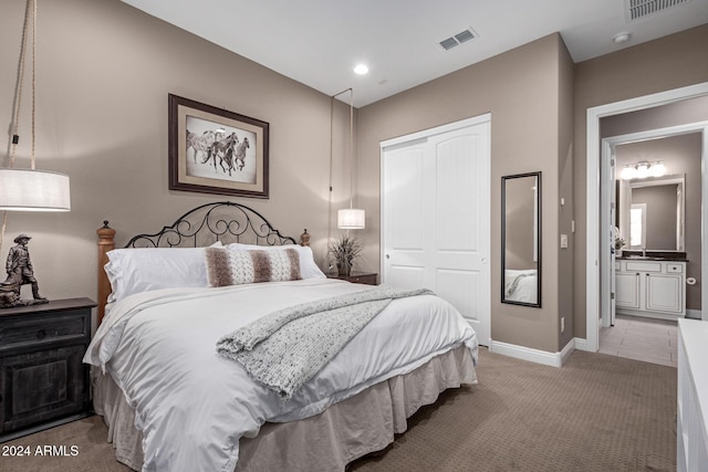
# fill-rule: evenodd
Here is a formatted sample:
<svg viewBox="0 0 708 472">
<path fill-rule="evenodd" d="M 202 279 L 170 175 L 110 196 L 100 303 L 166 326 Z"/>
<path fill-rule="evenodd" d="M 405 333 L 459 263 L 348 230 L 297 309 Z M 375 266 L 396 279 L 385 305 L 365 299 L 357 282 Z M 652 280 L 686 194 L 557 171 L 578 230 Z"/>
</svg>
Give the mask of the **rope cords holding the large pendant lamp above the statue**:
<svg viewBox="0 0 708 472">
<path fill-rule="evenodd" d="M 35 59 L 37 59 L 37 0 L 27 0 L 24 11 L 24 25 L 22 27 L 22 43 L 20 45 L 20 64 L 18 66 L 18 85 L 15 87 L 14 111 L 12 115 L 12 136 L 10 137 L 10 168 L 14 167 L 14 157 L 18 143 L 20 141 L 20 108 L 22 105 L 22 84 L 24 82 L 24 63 L 27 56 L 27 38 L 32 17 L 32 146 L 30 154 L 30 168 L 34 170 L 34 98 L 35 98 Z M 2 228 L 0 229 L 0 250 L 4 240 L 4 230 L 8 224 L 8 211 L 2 212 Z"/>
</svg>

